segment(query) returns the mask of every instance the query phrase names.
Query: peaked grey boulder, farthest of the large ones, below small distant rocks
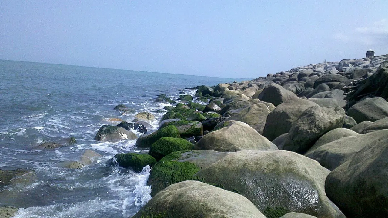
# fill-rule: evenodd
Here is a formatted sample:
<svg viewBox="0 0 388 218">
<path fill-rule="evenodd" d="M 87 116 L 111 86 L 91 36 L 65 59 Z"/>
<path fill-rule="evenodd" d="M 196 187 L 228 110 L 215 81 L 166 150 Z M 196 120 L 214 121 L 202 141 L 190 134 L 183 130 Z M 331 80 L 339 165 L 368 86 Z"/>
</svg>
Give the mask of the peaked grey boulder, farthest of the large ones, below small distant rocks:
<svg viewBox="0 0 388 218">
<path fill-rule="evenodd" d="M 294 98 L 297 98 L 297 96 L 293 92 L 288 91 L 275 83 L 268 85 L 268 87 L 264 88 L 263 92 L 259 95 L 260 100 L 272 103 L 275 107 L 286 100 Z"/>
</svg>

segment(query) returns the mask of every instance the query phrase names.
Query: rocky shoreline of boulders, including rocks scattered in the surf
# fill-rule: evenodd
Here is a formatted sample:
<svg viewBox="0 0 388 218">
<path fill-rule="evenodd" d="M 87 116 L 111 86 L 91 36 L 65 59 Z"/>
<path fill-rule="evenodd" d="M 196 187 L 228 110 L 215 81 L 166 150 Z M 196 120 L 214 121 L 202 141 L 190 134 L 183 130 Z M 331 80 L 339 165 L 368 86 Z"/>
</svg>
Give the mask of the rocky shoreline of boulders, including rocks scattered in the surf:
<svg viewBox="0 0 388 218">
<path fill-rule="evenodd" d="M 108 163 L 135 172 L 152 168 L 147 182 L 152 199 L 133 217 L 388 213 L 388 55 L 189 89 L 196 90 L 194 98 L 182 92 L 178 102 L 163 94 L 154 100 L 177 103 L 164 108 L 158 130 L 147 133 L 155 117 L 141 112 L 132 123 L 102 126 L 94 138 L 137 140 L 136 146 L 148 151 L 116 154 Z M 133 112 L 124 105 L 114 110 Z M 66 167 L 82 168 L 98 156 L 86 151 Z M 25 173 L 0 170 L 0 185 Z M 0 208 L 5 217 L 15 212 Z"/>
</svg>

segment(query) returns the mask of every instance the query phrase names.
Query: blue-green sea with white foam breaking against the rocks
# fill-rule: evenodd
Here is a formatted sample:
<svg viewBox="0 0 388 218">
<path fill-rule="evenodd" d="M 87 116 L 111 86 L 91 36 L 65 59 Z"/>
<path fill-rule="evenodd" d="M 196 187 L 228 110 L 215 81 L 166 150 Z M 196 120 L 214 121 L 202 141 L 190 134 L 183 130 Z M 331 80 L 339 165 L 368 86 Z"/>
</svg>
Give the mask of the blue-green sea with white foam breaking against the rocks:
<svg viewBox="0 0 388 218">
<path fill-rule="evenodd" d="M 179 92 L 198 85 L 217 85 L 234 79 L 165 74 L 120 69 L 0 60 L 0 170 L 29 169 L 19 182 L 0 186 L 0 206 L 20 208 L 16 218 L 121 218 L 131 217 L 151 199 L 147 186 L 150 167 L 141 173 L 109 164 L 117 153 L 147 153 L 135 140 L 98 142 L 102 125 L 131 122 L 139 112 L 159 126 L 165 106 L 157 95 L 177 99 Z M 113 110 L 123 104 L 135 112 Z M 140 133 L 136 133 L 140 135 Z M 44 142 L 70 137 L 75 144 L 40 149 Z M 101 156 L 82 169 L 78 161 L 86 150 Z"/>
</svg>

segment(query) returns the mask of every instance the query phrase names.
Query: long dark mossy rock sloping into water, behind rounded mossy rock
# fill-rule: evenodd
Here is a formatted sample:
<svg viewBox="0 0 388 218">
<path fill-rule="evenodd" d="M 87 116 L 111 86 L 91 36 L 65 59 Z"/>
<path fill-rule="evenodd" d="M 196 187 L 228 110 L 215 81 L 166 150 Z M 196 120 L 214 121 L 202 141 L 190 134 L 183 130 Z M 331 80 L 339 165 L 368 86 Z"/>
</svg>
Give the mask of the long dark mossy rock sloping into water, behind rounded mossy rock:
<svg viewBox="0 0 388 218">
<path fill-rule="evenodd" d="M 151 147 L 152 143 L 156 142 L 159 138 L 162 137 L 180 138 L 180 135 L 176 126 L 169 125 L 149 135 L 140 136 L 136 141 L 136 146 L 142 148 Z"/>
</svg>

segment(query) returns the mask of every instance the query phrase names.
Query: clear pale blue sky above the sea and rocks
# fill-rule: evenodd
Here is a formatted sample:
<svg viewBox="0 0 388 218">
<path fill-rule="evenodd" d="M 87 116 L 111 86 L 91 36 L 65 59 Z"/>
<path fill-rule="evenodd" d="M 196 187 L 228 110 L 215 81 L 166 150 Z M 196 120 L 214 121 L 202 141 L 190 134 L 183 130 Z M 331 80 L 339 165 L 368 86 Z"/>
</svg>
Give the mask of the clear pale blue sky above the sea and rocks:
<svg viewBox="0 0 388 218">
<path fill-rule="evenodd" d="M 0 0 L 0 59 L 229 78 L 388 54 L 388 0 Z"/>
</svg>

